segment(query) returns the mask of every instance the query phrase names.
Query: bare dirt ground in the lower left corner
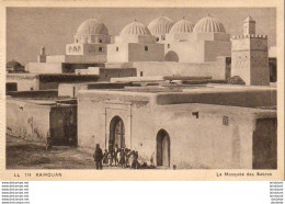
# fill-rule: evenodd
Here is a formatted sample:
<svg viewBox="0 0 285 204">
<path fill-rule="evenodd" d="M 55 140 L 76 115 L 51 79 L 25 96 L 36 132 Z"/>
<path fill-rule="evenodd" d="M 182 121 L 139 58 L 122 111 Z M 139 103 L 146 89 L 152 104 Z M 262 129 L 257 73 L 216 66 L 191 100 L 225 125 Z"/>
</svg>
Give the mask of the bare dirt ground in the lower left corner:
<svg viewBox="0 0 285 204">
<path fill-rule="evenodd" d="M 95 169 L 92 156 L 77 148 L 57 146 L 7 136 L 7 169 Z M 107 169 L 111 169 L 107 167 Z"/>
</svg>

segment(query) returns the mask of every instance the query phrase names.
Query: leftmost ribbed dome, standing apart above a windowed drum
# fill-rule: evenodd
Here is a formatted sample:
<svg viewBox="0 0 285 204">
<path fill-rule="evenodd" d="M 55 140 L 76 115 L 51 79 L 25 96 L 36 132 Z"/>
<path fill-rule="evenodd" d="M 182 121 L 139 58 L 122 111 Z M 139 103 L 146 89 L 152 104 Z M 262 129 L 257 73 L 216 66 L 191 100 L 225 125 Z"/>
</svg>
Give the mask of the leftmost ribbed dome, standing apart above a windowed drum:
<svg viewBox="0 0 285 204">
<path fill-rule="evenodd" d="M 107 29 L 103 22 L 96 19 L 90 19 L 81 23 L 77 30 L 77 35 L 107 35 Z"/>
</svg>

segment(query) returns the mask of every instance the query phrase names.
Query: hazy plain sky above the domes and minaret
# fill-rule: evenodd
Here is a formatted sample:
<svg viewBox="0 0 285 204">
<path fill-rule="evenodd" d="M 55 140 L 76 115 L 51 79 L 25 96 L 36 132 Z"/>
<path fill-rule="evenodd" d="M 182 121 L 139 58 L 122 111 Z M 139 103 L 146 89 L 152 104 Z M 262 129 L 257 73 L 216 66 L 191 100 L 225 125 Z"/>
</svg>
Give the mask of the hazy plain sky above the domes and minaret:
<svg viewBox="0 0 285 204">
<path fill-rule="evenodd" d="M 227 33 L 241 34 L 243 20 L 250 13 L 256 21 L 256 34 L 269 35 L 269 46 L 276 45 L 275 9 L 69 9 L 69 8 L 9 8 L 7 10 L 7 60 L 23 65 L 36 61 L 42 46 L 48 55 L 65 54 L 65 45 L 73 43 L 78 26 L 95 18 L 104 22 L 111 35 L 136 19 L 146 25 L 164 15 L 174 21 L 185 16 L 196 23 L 207 14 L 220 20 Z"/>
</svg>

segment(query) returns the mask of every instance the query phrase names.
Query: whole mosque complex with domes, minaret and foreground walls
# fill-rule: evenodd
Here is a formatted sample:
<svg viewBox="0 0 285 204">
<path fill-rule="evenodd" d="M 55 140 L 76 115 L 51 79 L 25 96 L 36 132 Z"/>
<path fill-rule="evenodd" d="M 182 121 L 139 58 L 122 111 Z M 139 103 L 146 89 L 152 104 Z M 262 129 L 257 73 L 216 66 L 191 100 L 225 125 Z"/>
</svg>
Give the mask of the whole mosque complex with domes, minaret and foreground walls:
<svg viewBox="0 0 285 204">
<path fill-rule="evenodd" d="M 10 133 L 42 141 L 58 133 L 66 144 L 71 129 L 87 151 L 118 145 L 164 168 L 276 169 L 277 91 L 269 86 L 267 37 L 255 35 L 250 16 L 243 35 L 232 37 L 209 15 L 195 24 L 135 20 L 114 43 L 91 19 L 65 55 L 43 47 L 27 70 L 7 73 L 8 82 L 37 86 L 9 93 Z M 237 76 L 246 86 L 227 84 Z"/>
</svg>

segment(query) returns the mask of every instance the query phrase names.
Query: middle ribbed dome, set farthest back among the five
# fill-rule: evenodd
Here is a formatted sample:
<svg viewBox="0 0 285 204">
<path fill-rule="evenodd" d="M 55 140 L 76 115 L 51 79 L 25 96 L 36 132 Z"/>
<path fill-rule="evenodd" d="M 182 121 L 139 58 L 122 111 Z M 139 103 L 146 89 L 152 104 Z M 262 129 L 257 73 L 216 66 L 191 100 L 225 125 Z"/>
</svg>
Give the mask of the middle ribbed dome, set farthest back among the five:
<svg viewBox="0 0 285 204">
<path fill-rule="evenodd" d="M 159 16 L 149 23 L 148 29 L 152 35 L 166 35 L 173 25 L 174 22 L 171 19 Z"/>
</svg>

